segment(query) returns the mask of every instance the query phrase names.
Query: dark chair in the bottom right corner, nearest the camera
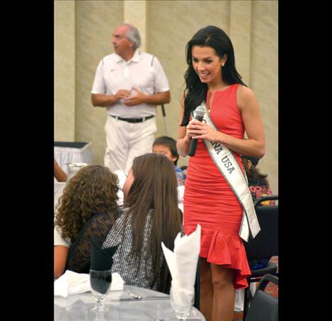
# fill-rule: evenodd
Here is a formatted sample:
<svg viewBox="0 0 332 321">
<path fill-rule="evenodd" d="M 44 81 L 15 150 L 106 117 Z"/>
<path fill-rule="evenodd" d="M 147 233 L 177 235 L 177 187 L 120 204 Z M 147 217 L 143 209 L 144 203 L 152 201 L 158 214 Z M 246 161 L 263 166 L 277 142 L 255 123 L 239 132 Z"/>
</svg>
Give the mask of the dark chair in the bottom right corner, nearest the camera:
<svg viewBox="0 0 332 321">
<path fill-rule="evenodd" d="M 278 320 L 278 299 L 264 292 L 269 282 L 278 285 L 277 276 L 265 274 L 258 284 L 248 315 L 244 321 L 277 321 Z"/>
</svg>

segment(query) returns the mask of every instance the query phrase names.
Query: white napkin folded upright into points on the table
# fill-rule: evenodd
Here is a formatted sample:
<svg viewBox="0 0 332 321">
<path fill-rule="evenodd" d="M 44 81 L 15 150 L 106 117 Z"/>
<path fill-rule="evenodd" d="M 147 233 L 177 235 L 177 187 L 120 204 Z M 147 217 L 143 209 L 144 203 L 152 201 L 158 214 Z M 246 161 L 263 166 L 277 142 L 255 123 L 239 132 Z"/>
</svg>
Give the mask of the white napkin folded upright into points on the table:
<svg viewBox="0 0 332 321">
<path fill-rule="evenodd" d="M 161 243 L 172 276 L 173 303 L 179 308 L 193 304 L 195 276 L 200 255 L 200 230 L 200 224 L 198 224 L 195 232 L 190 235 L 184 235 L 181 238 L 181 233 L 178 233 L 174 240 L 173 252 Z"/>
</svg>

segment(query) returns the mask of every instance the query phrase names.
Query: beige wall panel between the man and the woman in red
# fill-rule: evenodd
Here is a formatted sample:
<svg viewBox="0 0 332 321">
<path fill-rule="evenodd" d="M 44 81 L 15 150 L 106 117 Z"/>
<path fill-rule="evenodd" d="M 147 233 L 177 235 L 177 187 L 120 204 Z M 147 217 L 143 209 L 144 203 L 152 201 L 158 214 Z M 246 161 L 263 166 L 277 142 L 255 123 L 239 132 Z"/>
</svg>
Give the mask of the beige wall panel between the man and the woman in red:
<svg viewBox="0 0 332 321">
<path fill-rule="evenodd" d="M 202 3 L 204 2 L 204 5 Z M 164 66 L 171 88 L 171 103 L 166 105 L 167 134 L 178 137 L 180 100 L 187 69 L 185 45 L 198 29 L 213 24 L 229 32 L 229 1 L 149 1 L 148 49 Z M 213 10 L 212 10 L 213 8 Z M 213 12 L 213 14 L 212 14 Z M 165 126 L 158 107 L 158 135 Z M 178 165 L 186 165 L 188 158 L 180 158 Z"/>
</svg>

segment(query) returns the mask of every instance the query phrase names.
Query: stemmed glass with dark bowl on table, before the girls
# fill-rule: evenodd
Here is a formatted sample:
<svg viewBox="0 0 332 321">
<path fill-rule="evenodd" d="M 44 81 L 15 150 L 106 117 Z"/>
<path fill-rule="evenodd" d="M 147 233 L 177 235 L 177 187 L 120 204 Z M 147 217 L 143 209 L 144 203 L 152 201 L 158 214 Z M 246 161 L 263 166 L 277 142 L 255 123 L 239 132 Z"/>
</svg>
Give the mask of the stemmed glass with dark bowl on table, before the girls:
<svg viewBox="0 0 332 321">
<path fill-rule="evenodd" d="M 103 320 L 103 313 L 108 310 L 104 300 L 110 291 L 111 282 L 112 272 L 110 269 L 103 271 L 90 269 L 91 292 L 96 298 L 96 305 L 91 310 L 96 313 L 96 320 Z"/>
</svg>

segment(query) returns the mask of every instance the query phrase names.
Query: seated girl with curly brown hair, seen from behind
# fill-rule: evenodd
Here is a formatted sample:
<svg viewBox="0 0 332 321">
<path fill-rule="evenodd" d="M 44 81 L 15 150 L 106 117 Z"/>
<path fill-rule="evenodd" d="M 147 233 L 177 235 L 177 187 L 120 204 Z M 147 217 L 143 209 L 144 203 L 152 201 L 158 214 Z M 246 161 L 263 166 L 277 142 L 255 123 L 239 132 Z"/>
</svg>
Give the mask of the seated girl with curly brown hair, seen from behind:
<svg viewBox="0 0 332 321">
<path fill-rule="evenodd" d="M 72 246 L 76 245 L 79 233 L 93 217 L 102 219 L 93 232 L 100 238 L 118 217 L 118 177 L 101 165 L 81 168 L 68 181 L 57 204 L 55 216 L 54 274 L 61 276 L 66 269 L 88 273 L 90 267 L 90 243 L 79 257 L 72 259 Z M 73 249 L 76 248 L 75 246 Z M 69 260 L 69 257 L 71 258 Z M 76 265 L 75 265 L 76 264 Z"/>
</svg>

